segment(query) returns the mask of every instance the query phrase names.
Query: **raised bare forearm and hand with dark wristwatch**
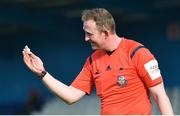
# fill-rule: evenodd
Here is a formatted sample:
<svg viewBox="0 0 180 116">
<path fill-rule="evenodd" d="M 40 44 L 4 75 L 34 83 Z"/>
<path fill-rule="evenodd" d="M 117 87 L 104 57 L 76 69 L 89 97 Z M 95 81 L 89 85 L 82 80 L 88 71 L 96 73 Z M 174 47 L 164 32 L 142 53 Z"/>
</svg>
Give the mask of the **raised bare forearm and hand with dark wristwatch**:
<svg viewBox="0 0 180 116">
<path fill-rule="evenodd" d="M 27 46 L 23 50 L 23 60 L 26 66 L 36 73 L 45 85 L 66 103 L 72 104 L 85 95 L 84 91 L 67 86 L 46 73 L 41 59 L 33 54 Z"/>
</svg>

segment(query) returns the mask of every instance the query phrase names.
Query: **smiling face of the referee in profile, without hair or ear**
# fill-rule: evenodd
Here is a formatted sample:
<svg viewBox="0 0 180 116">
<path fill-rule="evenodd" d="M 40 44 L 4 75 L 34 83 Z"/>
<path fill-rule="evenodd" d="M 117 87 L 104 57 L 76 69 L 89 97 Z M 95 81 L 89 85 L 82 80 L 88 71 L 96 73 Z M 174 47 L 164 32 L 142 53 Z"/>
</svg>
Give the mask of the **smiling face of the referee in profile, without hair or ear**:
<svg viewBox="0 0 180 116">
<path fill-rule="evenodd" d="M 97 29 L 93 20 L 85 21 L 83 24 L 85 41 L 90 42 L 93 50 L 102 49 L 105 42 L 105 34 Z"/>
</svg>

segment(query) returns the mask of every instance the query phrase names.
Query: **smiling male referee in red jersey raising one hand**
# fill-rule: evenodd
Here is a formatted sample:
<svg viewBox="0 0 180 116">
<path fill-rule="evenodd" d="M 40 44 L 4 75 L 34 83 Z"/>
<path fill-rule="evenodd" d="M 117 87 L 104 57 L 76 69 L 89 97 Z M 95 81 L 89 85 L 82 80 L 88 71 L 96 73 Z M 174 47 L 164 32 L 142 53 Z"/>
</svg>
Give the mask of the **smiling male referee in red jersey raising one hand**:
<svg viewBox="0 0 180 116">
<path fill-rule="evenodd" d="M 84 10 L 82 21 L 85 41 L 95 51 L 70 86 L 51 76 L 41 59 L 26 47 L 23 56 L 28 68 L 68 104 L 90 94 L 95 86 L 102 115 L 152 114 L 150 95 L 161 114 L 173 114 L 158 62 L 151 52 L 136 41 L 119 37 L 106 9 Z"/>
</svg>

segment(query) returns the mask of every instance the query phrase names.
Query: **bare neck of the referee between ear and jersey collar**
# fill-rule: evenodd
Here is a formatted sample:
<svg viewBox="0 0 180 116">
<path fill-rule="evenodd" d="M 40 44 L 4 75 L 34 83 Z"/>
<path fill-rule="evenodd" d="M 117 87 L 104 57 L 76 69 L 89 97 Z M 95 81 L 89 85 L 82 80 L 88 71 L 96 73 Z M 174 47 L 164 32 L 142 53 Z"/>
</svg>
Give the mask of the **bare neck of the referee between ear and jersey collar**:
<svg viewBox="0 0 180 116">
<path fill-rule="evenodd" d="M 116 34 L 111 35 L 109 38 L 107 38 L 106 51 L 112 52 L 115 49 L 117 49 L 121 40 L 122 40 L 122 38 L 117 36 Z"/>
</svg>

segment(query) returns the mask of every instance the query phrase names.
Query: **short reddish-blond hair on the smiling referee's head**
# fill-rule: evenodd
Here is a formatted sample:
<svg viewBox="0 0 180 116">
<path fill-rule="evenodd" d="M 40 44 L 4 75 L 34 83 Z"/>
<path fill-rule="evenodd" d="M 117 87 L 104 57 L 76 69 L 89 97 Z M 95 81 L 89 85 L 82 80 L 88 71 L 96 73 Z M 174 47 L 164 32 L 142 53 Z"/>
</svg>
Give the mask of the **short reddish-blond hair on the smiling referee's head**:
<svg viewBox="0 0 180 116">
<path fill-rule="evenodd" d="M 82 21 L 94 20 L 99 31 L 103 31 L 104 27 L 115 33 L 115 21 L 111 13 L 104 8 L 93 8 L 82 12 Z"/>
</svg>

